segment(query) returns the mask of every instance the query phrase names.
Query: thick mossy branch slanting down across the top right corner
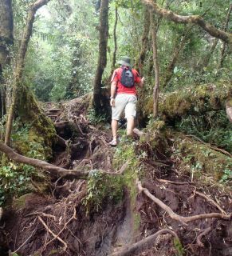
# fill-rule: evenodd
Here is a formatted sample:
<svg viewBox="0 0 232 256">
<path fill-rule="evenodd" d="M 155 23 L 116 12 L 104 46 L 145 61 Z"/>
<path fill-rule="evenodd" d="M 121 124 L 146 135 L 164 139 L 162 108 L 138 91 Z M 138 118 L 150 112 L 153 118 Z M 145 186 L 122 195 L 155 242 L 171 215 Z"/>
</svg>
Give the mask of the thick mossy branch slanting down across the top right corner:
<svg viewBox="0 0 232 256">
<path fill-rule="evenodd" d="M 167 10 L 164 8 L 160 8 L 154 1 L 152 0 L 143 0 L 144 4 L 152 8 L 155 14 L 159 14 L 163 18 L 167 18 L 175 23 L 193 23 L 197 26 L 200 26 L 203 30 L 209 33 L 214 38 L 219 38 L 223 42 L 228 43 L 230 48 L 232 49 L 232 34 L 226 33 L 223 30 L 218 30 L 216 27 L 212 26 L 210 23 L 206 22 L 201 16 L 199 15 L 179 15 L 175 14 L 171 10 Z"/>
</svg>

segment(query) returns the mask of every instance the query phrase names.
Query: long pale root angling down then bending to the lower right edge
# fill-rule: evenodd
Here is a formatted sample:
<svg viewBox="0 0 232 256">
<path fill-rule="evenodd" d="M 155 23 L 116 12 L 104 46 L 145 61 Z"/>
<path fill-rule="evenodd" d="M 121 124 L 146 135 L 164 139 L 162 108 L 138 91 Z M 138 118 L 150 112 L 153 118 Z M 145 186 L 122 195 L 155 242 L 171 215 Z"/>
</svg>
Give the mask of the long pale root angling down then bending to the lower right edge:
<svg viewBox="0 0 232 256">
<path fill-rule="evenodd" d="M 226 220 L 231 219 L 231 214 L 226 215 L 226 214 L 218 214 L 218 213 L 198 214 L 198 215 L 194 215 L 194 216 L 190 216 L 190 217 L 180 216 L 179 214 L 175 214 L 175 212 L 173 210 L 171 210 L 171 208 L 169 206 L 164 204 L 158 198 L 155 198 L 155 196 L 153 194 L 151 194 L 149 192 L 149 190 L 147 190 L 146 188 L 144 188 L 141 185 L 140 181 L 137 180 L 136 184 L 137 184 L 140 192 L 144 192 L 144 194 L 146 194 L 148 198 L 151 198 L 151 200 L 153 202 L 155 202 L 159 207 L 161 207 L 163 210 L 167 211 L 167 214 L 169 214 L 169 216 L 172 219 L 175 219 L 176 221 L 181 222 L 184 226 L 187 226 L 187 222 L 194 222 L 196 220 L 203 219 L 203 218 L 222 218 L 222 219 L 226 219 Z"/>
</svg>

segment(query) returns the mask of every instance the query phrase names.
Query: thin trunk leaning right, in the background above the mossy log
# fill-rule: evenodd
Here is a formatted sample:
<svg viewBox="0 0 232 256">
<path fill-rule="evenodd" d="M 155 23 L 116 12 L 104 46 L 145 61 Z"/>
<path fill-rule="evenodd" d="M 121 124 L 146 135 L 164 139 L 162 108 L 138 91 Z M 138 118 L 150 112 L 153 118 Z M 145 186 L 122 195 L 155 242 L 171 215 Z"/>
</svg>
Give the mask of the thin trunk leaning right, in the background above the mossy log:
<svg viewBox="0 0 232 256">
<path fill-rule="evenodd" d="M 169 63 L 169 65 L 167 66 L 167 70 L 165 71 L 165 77 L 163 79 L 163 88 L 165 86 L 167 86 L 167 83 L 171 80 L 171 76 L 172 76 L 173 70 L 175 68 L 175 63 L 177 62 L 177 59 L 179 58 L 179 53 L 181 52 L 181 50 L 183 50 L 183 47 L 187 41 L 187 34 L 188 34 L 189 30 L 190 30 L 190 28 L 187 28 L 184 35 L 179 40 L 180 42 L 179 41 L 176 42 L 175 50 L 172 55 L 171 62 Z"/>
</svg>

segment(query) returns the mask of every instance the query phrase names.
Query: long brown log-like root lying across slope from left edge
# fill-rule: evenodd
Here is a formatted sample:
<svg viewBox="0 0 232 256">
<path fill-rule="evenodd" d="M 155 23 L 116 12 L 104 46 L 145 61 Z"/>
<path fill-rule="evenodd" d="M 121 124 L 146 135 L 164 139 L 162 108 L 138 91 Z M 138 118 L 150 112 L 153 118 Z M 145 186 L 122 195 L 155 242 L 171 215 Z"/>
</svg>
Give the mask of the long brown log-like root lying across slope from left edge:
<svg viewBox="0 0 232 256">
<path fill-rule="evenodd" d="M 48 170 L 51 173 L 59 174 L 65 178 L 87 179 L 88 175 L 92 173 L 92 170 L 68 170 L 59 166 L 54 166 L 42 160 L 25 157 L 21 154 L 14 152 L 14 150 L 12 150 L 9 146 L 6 146 L 6 144 L 3 144 L 2 142 L 0 142 L 0 151 L 5 153 L 8 156 L 8 158 L 12 159 L 14 162 L 20 162 L 29 166 L 34 166 L 37 168 Z M 124 170 L 126 170 L 127 167 L 128 162 L 125 162 L 124 165 L 120 168 L 120 170 L 116 172 L 109 172 L 106 170 L 99 171 L 103 174 L 120 175 L 124 173 Z"/>
</svg>

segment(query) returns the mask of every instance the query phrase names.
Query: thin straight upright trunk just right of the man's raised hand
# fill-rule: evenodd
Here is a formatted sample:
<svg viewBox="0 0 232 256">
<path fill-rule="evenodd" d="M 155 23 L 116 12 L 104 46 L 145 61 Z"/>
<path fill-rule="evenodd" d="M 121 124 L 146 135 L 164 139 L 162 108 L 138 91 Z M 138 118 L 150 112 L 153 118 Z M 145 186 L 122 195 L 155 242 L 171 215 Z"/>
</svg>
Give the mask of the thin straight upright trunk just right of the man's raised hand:
<svg viewBox="0 0 232 256">
<path fill-rule="evenodd" d="M 151 22 L 151 38 L 153 49 L 153 62 L 155 71 L 155 86 L 153 89 L 153 115 L 154 118 L 158 115 L 158 98 L 159 98 L 159 64 L 157 54 L 157 22 L 155 21 L 154 12 L 150 10 L 150 22 Z"/>
</svg>

